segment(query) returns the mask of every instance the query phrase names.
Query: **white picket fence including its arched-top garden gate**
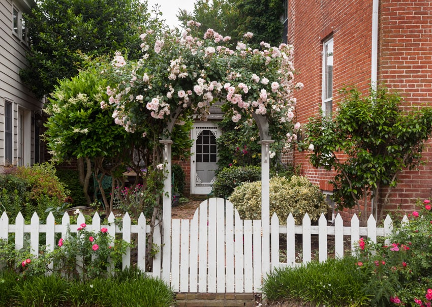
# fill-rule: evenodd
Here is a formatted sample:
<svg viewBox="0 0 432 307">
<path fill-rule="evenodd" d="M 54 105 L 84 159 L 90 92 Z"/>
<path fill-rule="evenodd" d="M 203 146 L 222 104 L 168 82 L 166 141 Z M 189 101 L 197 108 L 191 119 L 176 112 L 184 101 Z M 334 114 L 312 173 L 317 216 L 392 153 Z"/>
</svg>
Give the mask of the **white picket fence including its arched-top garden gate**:
<svg viewBox="0 0 432 307">
<path fill-rule="evenodd" d="M 9 224 L 9 218 L 3 213 L 0 218 L 0 238 L 7 239 L 9 233 L 15 233 L 15 247 L 24 246 L 24 234 L 30 235 L 30 249 L 37 256 L 39 252 L 39 234 L 46 233 L 48 250 L 56 246 L 55 234 L 61 233 L 65 237 L 68 229 L 76 232 L 84 223 L 82 214 L 76 224 L 70 224 L 68 213 L 64 214 L 62 223 L 56 225 L 50 213 L 46 224 L 40 224 L 39 217 L 34 213 L 29 225 L 24 224 L 21 213 L 15 219 L 15 224 Z M 360 237 L 369 237 L 377 241 L 378 236 L 388 236 L 392 231 L 390 217 L 384 221 L 384 227 L 378 228 L 374 218 L 368 219 L 367 227 L 360 227 L 357 216 L 351 220 L 351 226 L 343 224 L 338 214 L 334 226 L 328 226 L 322 215 L 318 225 L 311 225 L 311 220 L 304 216 L 302 225 L 295 225 L 290 217 L 286 225 L 280 225 L 274 214 L 270 223 L 270 238 L 262 236 L 261 220 L 241 220 L 232 203 L 221 198 L 211 198 L 204 201 L 197 208 L 192 220 L 171 220 L 171 259 L 170 284 L 176 292 L 227 292 L 251 293 L 260 292 L 263 272 L 268 267 L 263 259 L 269 259 L 270 268 L 293 266 L 307 263 L 318 252 L 318 259 L 325 261 L 329 255 L 343 257 L 347 237 L 350 237 L 351 250 L 358 246 Z M 119 227 L 114 223 L 114 215 L 108 217 L 108 224 L 102 225 L 100 217 L 95 214 L 92 224 L 86 226 L 88 230 L 99 231 L 102 227 L 108 229 L 112 236 L 121 233 L 121 237 L 130 242 L 132 234 L 137 234 L 137 253 L 131 259 L 128 249 L 122 259 L 125 268 L 136 263 L 141 270 L 145 270 L 145 237 L 150 227 L 146 224 L 143 214 L 137 225 L 131 224 L 129 214 L 126 214 Z M 280 261 L 280 234 L 286 234 L 286 261 Z M 296 234 L 301 235 L 301 250 L 296 250 Z M 318 251 L 312 250 L 312 240 L 318 237 Z M 344 238 L 345 237 L 345 238 Z M 263 253 L 263 240 L 270 241 L 270 251 Z M 298 236 L 297 236 L 298 239 Z M 331 253 L 328 241 L 334 242 Z M 155 229 L 154 242 L 161 244 L 159 227 Z M 333 250 L 334 249 L 334 250 Z M 264 255 L 264 256 L 263 256 Z M 301 256 L 301 257 L 300 257 Z M 161 253 L 153 260 L 152 271 L 154 277 L 162 277 Z"/>
</svg>

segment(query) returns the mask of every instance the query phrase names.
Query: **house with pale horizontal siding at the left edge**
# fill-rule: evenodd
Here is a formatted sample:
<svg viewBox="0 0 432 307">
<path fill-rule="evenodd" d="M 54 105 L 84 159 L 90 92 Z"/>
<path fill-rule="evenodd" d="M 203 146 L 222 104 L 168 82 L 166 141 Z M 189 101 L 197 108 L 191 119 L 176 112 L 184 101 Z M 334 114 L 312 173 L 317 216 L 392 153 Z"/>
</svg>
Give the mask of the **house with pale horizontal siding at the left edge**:
<svg viewBox="0 0 432 307">
<path fill-rule="evenodd" d="M 40 162 L 43 102 L 19 77 L 28 48 L 22 13 L 34 5 L 33 0 L 0 0 L 0 172 L 3 166 Z"/>
</svg>

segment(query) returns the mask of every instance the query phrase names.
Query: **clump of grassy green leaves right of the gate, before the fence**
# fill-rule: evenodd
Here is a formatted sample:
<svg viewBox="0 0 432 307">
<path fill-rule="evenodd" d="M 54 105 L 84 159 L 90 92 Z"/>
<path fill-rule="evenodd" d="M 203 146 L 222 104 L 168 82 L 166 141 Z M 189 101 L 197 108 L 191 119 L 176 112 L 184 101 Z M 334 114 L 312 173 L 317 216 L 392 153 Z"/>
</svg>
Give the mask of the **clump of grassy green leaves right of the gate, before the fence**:
<svg viewBox="0 0 432 307">
<path fill-rule="evenodd" d="M 316 306 L 369 306 L 367 282 L 356 260 L 330 258 L 307 265 L 276 268 L 264 280 L 262 291 L 270 301 L 302 300 Z"/>
</svg>

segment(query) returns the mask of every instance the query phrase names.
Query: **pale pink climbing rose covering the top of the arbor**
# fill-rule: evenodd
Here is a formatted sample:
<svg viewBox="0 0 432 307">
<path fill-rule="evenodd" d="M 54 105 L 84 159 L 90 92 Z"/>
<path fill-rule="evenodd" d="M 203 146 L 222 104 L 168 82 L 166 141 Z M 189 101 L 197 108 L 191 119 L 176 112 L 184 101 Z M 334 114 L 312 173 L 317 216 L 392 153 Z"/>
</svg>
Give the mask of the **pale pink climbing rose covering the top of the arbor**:
<svg viewBox="0 0 432 307">
<path fill-rule="evenodd" d="M 199 26 L 190 21 L 188 26 Z M 171 125 L 181 124 L 180 114 L 195 113 L 206 120 L 210 106 L 217 101 L 232 109 L 232 120 L 242 116 L 265 116 L 270 125 L 283 126 L 287 139 L 300 130 L 294 121 L 296 100 L 293 47 L 271 47 L 262 42 L 251 49 L 246 33 L 236 46 L 230 37 L 208 29 L 202 39 L 192 37 L 187 28 L 178 31 L 147 30 L 142 40 L 142 58 L 128 61 L 117 52 L 107 75 L 112 85 L 106 88 L 108 101 L 102 108 L 114 108 L 116 124 L 129 132 L 160 134 Z M 252 122 L 252 121 L 251 121 Z"/>
</svg>

